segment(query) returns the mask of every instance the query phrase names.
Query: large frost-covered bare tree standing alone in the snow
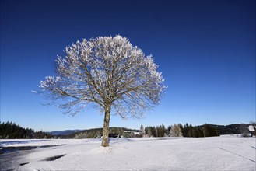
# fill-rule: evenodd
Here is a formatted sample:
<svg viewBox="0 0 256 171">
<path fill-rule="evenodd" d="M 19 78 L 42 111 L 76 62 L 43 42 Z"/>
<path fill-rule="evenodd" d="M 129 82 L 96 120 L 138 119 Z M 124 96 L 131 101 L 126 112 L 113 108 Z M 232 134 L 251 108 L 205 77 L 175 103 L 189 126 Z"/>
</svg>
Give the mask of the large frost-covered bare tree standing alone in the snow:
<svg viewBox="0 0 256 171">
<path fill-rule="evenodd" d="M 109 146 L 111 110 L 124 119 L 142 117 L 160 103 L 167 88 L 152 55 L 145 56 L 119 35 L 78 40 L 56 62 L 56 76 L 41 81 L 38 92 L 71 115 L 89 104 L 100 109 L 104 113 L 103 147 Z"/>
</svg>

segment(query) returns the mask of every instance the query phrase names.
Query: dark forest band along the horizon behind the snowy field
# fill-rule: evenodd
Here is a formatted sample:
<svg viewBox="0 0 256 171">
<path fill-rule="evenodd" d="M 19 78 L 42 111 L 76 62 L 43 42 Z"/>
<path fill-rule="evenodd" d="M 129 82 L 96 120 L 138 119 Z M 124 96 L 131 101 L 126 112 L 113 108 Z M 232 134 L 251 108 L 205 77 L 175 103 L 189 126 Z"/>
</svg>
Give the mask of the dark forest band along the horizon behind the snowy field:
<svg viewBox="0 0 256 171">
<path fill-rule="evenodd" d="M 212 137 L 221 134 L 242 134 L 248 124 L 230 124 L 230 125 L 214 125 L 203 124 L 200 126 L 192 126 L 191 124 L 174 124 L 165 127 L 163 124 L 158 126 L 141 125 L 140 129 L 129 129 L 126 127 L 110 127 L 110 134 L 120 134 L 124 138 L 135 137 Z M 174 134 L 174 128 L 179 134 Z M 31 128 L 23 128 L 19 125 L 6 122 L 0 124 L 0 139 L 34 139 L 34 138 L 100 138 L 103 128 L 94 128 L 85 131 L 80 131 L 68 135 L 52 135 L 51 132 L 33 131 Z"/>
</svg>

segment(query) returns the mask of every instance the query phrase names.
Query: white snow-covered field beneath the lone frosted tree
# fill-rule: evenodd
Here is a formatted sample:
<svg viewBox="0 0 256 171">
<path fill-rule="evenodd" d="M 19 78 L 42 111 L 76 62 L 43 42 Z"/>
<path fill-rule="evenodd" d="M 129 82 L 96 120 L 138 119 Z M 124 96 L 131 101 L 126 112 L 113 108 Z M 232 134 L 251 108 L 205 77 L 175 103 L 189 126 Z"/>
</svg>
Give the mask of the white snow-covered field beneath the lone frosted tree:
<svg viewBox="0 0 256 171">
<path fill-rule="evenodd" d="M 1 140 L 0 146 L 60 145 L 24 155 L 18 170 L 256 170 L 256 138 Z M 54 161 L 51 157 L 64 155 Z M 3 157 L 3 155 L 0 157 Z"/>
</svg>

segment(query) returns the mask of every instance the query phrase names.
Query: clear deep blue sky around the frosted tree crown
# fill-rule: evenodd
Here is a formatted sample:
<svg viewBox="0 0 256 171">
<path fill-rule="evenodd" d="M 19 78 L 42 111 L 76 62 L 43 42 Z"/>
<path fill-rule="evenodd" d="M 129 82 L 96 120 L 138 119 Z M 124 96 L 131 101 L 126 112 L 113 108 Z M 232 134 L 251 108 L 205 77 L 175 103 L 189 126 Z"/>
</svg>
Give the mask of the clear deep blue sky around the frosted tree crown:
<svg viewBox="0 0 256 171">
<path fill-rule="evenodd" d="M 237 124 L 255 120 L 255 1 L 1 1 L 1 122 L 36 131 L 103 126 L 97 110 L 75 117 L 31 92 L 82 38 L 128 37 L 153 54 L 168 89 L 140 120 L 110 127 Z"/>
</svg>

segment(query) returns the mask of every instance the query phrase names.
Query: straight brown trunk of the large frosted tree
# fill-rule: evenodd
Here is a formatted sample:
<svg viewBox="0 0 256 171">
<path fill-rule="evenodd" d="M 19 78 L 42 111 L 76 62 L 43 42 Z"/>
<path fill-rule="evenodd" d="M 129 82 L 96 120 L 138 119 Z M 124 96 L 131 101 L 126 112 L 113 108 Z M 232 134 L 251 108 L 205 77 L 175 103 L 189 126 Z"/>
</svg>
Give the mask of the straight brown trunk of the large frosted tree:
<svg viewBox="0 0 256 171">
<path fill-rule="evenodd" d="M 109 125 L 110 125 L 110 106 L 105 107 L 105 117 L 104 117 L 104 124 L 103 124 L 103 137 L 101 146 L 108 147 L 109 146 L 109 140 L 108 140 L 108 134 L 109 134 Z"/>
</svg>

